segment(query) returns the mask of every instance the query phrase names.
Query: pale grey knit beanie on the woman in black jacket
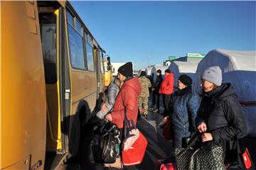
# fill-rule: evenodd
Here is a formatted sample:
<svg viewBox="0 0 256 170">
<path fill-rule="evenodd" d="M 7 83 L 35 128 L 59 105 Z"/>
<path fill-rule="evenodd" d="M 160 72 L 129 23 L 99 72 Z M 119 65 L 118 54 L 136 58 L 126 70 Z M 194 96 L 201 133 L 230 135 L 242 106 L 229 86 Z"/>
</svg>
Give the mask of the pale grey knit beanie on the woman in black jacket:
<svg viewBox="0 0 256 170">
<path fill-rule="evenodd" d="M 222 82 L 222 72 L 220 67 L 209 67 L 203 72 L 202 79 L 205 79 L 213 84 L 216 84 L 217 86 L 220 86 Z"/>
</svg>

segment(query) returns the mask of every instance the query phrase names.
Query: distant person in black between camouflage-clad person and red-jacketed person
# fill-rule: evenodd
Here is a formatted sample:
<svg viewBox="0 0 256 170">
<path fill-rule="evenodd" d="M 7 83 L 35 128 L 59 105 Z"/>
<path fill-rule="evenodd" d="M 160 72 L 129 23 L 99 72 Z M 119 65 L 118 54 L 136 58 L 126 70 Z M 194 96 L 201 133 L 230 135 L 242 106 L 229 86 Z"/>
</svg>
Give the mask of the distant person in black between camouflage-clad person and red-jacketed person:
<svg viewBox="0 0 256 170">
<path fill-rule="evenodd" d="M 153 84 L 153 88 L 154 88 L 154 91 L 153 91 L 153 95 L 152 95 L 152 103 L 151 103 L 151 107 L 149 108 L 149 111 L 153 111 L 155 113 L 159 113 L 159 107 L 160 107 L 160 104 L 159 104 L 159 89 L 160 89 L 160 86 L 161 86 L 161 82 L 163 81 L 163 78 L 161 76 L 161 69 L 158 69 L 156 71 L 156 81 L 154 82 Z"/>
</svg>

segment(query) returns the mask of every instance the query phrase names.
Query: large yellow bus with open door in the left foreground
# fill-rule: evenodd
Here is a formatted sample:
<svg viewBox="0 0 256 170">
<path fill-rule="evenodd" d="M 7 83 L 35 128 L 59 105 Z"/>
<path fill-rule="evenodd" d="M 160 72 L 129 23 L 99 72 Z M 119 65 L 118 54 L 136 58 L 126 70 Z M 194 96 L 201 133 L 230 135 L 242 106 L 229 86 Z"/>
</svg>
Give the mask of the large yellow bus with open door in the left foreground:
<svg viewBox="0 0 256 170">
<path fill-rule="evenodd" d="M 54 169 L 80 152 L 105 51 L 68 1 L 0 3 L 0 169 Z"/>
</svg>

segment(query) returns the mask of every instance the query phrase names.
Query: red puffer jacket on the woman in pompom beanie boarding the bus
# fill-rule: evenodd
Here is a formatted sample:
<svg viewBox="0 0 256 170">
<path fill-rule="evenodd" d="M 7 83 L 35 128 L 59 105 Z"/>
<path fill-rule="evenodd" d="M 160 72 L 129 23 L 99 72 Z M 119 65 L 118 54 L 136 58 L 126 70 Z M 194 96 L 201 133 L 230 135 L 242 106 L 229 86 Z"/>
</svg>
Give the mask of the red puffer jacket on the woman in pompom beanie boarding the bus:
<svg viewBox="0 0 256 170">
<path fill-rule="evenodd" d="M 124 81 L 119 94 L 114 103 L 114 110 L 111 113 L 112 123 L 118 128 L 124 127 L 124 108 L 127 112 L 127 118 L 137 123 L 139 94 L 141 94 L 142 86 L 139 84 L 137 77 Z"/>
</svg>

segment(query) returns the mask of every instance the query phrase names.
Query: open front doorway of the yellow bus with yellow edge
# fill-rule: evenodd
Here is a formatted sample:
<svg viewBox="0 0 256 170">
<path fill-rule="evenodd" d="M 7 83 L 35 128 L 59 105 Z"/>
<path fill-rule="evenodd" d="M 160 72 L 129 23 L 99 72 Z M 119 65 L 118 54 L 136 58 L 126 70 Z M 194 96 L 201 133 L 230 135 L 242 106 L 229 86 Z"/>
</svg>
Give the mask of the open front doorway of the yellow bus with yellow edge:
<svg viewBox="0 0 256 170">
<path fill-rule="evenodd" d="M 64 119 L 70 113 L 70 77 L 65 60 L 68 57 L 65 57 L 63 8 L 52 3 L 48 6 L 38 3 L 38 11 L 46 78 L 46 152 L 63 154 L 67 142 Z"/>
</svg>

